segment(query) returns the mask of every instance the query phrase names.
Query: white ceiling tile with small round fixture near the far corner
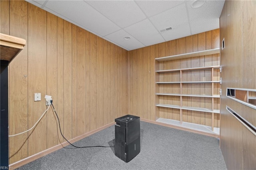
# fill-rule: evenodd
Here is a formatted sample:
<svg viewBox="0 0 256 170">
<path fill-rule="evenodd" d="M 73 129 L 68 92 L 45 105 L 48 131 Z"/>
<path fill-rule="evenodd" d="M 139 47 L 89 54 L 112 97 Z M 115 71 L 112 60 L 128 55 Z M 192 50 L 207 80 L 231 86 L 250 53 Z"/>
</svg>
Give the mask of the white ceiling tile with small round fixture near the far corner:
<svg viewBox="0 0 256 170">
<path fill-rule="evenodd" d="M 131 39 L 125 40 L 125 36 L 130 36 Z M 121 45 L 123 47 L 126 47 L 129 50 L 138 49 L 141 47 L 145 47 L 142 43 L 140 43 L 138 40 L 136 40 L 132 35 L 126 33 L 124 30 L 116 31 L 110 35 L 107 35 L 105 38 L 113 41 L 116 43 L 116 45 Z"/>
</svg>

